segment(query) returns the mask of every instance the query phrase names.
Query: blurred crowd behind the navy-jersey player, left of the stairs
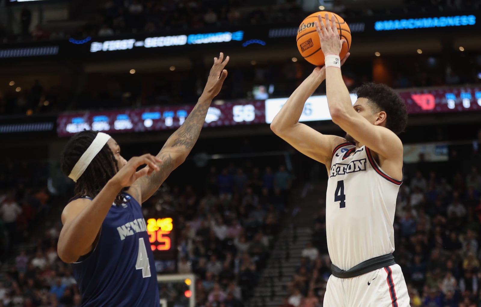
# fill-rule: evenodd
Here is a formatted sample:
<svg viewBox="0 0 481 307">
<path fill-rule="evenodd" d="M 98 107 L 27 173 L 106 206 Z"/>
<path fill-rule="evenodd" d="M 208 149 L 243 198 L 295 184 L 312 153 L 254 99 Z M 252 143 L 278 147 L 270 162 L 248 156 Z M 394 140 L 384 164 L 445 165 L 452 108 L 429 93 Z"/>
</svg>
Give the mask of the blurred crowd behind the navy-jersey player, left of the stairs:
<svg viewBox="0 0 481 307">
<path fill-rule="evenodd" d="M 22 192 L 18 188 L 22 187 L 22 175 L 12 177 L 18 174 L 13 171 L 6 174 L 12 175 L 2 177 L 10 183 L 2 181 L 5 192 L 0 193 L 0 222 L 16 244 L 6 247 L 0 307 L 80 306 L 71 267 L 56 252 L 60 215 L 42 215 L 35 230 L 22 228 L 29 214 L 38 216 L 45 211 L 37 203 L 60 209 L 65 204 L 52 200 L 48 191 Z M 24 184 L 29 186 L 35 174 L 26 176 Z M 143 204 L 145 216 L 169 212 L 178 217 L 178 272 L 196 275 L 196 306 L 242 307 L 253 294 L 291 184 L 292 176 L 282 165 L 274 170 L 232 166 L 218 170 L 212 166 L 205 182 L 164 187 Z M 33 210 L 25 209 L 29 204 Z M 22 231 L 25 236 L 19 240 Z M 160 296 L 177 305 L 186 301 L 174 283 L 161 284 Z"/>
</svg>

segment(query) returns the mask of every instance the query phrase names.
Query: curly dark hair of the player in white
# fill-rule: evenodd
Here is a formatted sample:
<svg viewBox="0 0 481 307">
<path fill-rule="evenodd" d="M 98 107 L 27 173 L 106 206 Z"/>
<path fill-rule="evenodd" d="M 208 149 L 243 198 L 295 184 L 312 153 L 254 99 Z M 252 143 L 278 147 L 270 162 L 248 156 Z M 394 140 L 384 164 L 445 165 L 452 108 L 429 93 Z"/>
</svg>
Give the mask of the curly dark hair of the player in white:
<svg viewBox="0 0 481 307">
<path fill-rule="evenodd" d="M 404 100 L 390 87 L 381 83 L 365 83 L 354 89 L 357 98 L 367 98 L 375 112 L 387 114 L 386 128 L 400 134 L 406 128 L 407 109 Z"/>
</svg>

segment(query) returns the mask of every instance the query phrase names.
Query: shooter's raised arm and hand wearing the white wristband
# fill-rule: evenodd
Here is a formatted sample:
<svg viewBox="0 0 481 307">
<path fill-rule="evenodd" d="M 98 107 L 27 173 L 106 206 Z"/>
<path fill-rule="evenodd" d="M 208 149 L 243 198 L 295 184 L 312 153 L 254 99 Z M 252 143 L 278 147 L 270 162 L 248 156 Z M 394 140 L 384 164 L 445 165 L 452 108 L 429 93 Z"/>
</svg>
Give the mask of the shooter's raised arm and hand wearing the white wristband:
<svg viewBox="0 0 481 307">
<path fill-rule="evenodd" d="M 333 54 L 339 57 L 343 41 L 339 38 L 334 17 L 329 21 L 328 14 L 326 14 L 326 25 L 322 22 L 320 15 L 318 17 L 319 21 L 315 24 L 324 54 Z M 401 140 L 388 128 L 373 125 L 357 113 L 362 110 L 356 105 L 352 106 L 349 91 L 342 80 L 341 69 L 328 65 L 326 76 L 326 91 L 332 121 L 351 135 L 354 140 L 378 154 L 380 158 L 395 160 L 402 165 L 403 144 Z M 385 112 L 382 116 L 386 116 Z"/>
</svg>

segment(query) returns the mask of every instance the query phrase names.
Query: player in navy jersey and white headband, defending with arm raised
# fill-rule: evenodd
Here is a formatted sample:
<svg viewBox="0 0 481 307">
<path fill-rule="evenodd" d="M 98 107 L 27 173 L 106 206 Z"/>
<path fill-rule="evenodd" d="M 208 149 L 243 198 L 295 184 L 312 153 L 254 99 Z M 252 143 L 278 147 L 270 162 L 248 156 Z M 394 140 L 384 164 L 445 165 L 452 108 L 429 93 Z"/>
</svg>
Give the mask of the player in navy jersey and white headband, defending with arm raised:
<svg viewBox="0 0 481 307">
<path fill-rule="evenodd" d="M 63 209 L 57 251 L 72 263 L 82 307 L 160 306 L 140 206 L 190 153 L 227 77 L 228 61 L 222 53 L 214 59 L 199 101 L 157 156 L 127 162 L 114 139 L 93 131 L 77 133 L 65 146 L 62 170 L 76 184 L 75 197 Z"/>
</svg>

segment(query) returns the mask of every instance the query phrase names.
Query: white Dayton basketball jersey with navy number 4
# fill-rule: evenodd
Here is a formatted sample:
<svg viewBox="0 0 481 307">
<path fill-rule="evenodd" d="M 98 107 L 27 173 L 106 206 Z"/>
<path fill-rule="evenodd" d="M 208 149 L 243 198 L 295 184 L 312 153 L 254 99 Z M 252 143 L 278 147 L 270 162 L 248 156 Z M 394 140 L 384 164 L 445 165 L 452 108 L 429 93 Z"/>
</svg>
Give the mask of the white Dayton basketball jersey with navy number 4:
<svg viewBox="0 0 481 307">
<path fill-rule="evenodd" d="M 352 154 L 352 155 L 351 155 Z M 348 270 L 394 252 L 394 212 L 402 181 L 386 175 L 371 154 L 353 143 L 332 154 L 326 194 L 326 232 L 334 265 Z"/>
</svg>

